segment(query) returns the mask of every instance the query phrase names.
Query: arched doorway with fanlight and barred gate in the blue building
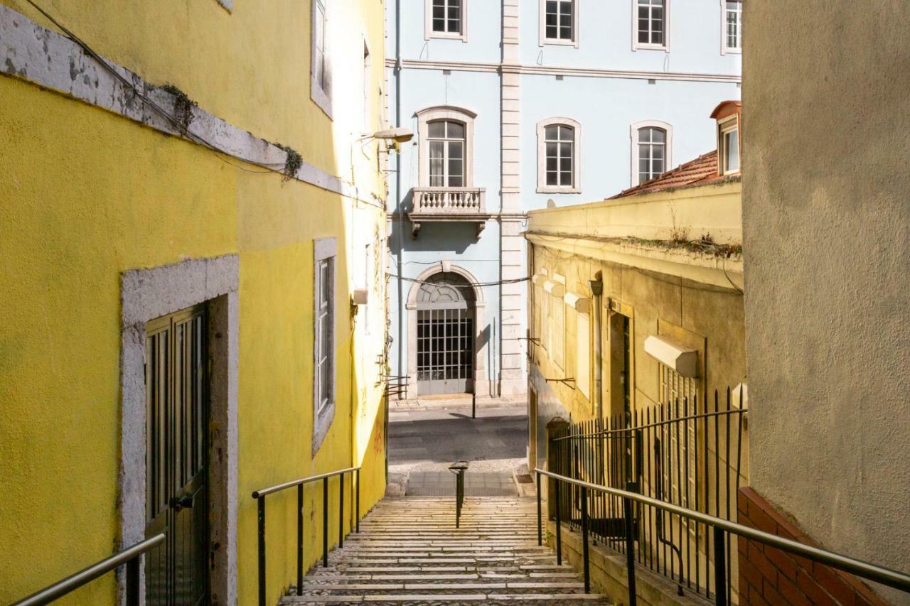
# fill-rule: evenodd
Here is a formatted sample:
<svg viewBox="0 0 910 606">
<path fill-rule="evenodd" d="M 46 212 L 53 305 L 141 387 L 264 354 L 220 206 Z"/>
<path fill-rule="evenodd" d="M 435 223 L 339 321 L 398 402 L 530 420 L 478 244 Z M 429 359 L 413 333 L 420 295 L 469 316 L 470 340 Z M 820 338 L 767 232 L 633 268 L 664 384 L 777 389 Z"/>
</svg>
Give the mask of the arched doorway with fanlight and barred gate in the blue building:
<svg viewBox="0 0 910 606">
<path fill-rule="evenodd" d="M 474 389 L 474 288 L 455 273 L 422 280 L 417 292 L 417 392 L 420 396 Z"/>
</svg>

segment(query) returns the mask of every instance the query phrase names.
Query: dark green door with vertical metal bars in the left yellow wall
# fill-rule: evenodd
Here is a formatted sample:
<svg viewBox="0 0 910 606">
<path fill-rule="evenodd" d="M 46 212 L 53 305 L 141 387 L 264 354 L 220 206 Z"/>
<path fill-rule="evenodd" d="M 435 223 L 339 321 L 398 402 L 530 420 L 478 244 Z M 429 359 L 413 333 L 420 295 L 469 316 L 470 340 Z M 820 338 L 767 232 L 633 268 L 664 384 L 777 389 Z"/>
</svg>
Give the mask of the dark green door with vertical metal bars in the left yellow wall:
<svg viewBox="0 0 910 606">
<path fill-rule="evenodd" d="M 188 308 L 146 325 L 146 603 L 208 601 L 206 311 Z"/>
</svg>

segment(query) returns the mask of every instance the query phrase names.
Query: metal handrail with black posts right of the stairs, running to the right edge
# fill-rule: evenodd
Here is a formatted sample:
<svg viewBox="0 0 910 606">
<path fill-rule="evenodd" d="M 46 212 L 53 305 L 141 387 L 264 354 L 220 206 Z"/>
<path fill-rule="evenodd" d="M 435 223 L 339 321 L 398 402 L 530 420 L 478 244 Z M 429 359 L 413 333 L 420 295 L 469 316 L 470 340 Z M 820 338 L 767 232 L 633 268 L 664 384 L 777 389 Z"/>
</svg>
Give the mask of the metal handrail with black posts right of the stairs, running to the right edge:
<svg viewBox="0 0 910 606">
<path fill-rule="evenodd" d="M 894 571 L 883 566 L 877 566 L 867 561 L 857 560 L 849 556 L 845 556 L 834 551 L 823 550 L 817 547 L 812 547 L 811 545 L 805 545 L 804 543 L 797 542 L 795 540 L 784 539 L 778 537 L 777 535 L 770 534 L 768 532 L 763 532 L 762 530 L 755 530 L 748 526 L 743 526 L 742 524 L 737 524 L 736 522 L 730 520 L 723 520 L 716 516 L 711 516 L 700 511 L 690 510 L 678 505 L 673 505 L 672 503 L 667 503 L 662 500 L 653 499 L 652 497 L 646 497 L 637 492 L 632 492 L 630 490 L 620 490 L 612 488 L 609 486 L 603 486 L 600 484 L 593 484 L 591 482 L 586 482 L 582 480 L 575 480 L 568 478 L 566 476 L 560 475 L 558 473 L 552 473 L 551 471 L 535 469 L 538 477 L 538 485 L 540 485 L 541 476 L 546 476 L 553 480 L 555 486 L 555 496 L 558 497 L 561 484 L 569 484 L 572 487 L 581 490 L 582 501 L 588 499 L 589 491 L 595 493 L 603 493 L 615 497 L 616 499 L 622 500 L 623 503 L 623 521 L 624 527 L 626 529 L 625 540 L 629 547 L 626 550 L 626 568 L 628 575 L 628 586 L 629 586 L 629 606 L 635 606 L 637 597 L 635 594 L 635 560 L 632 555 L 632 544 L 638 540 L 635 535 L 632 519 L 633 519 L 633 504 L 638 503 L 642 507 L 650 507 L 655 510 L 662 510 L 668 515 L 678 516 L 686 520 L 692 520 L 693 523 L 702 524 L 706 529 L 711 528 L 712 530 L 712 542 L 714 546 L 713 550 L 713 567 L 716 570 L 716 573 L 713 576 L 714 579 L 714 602 L 719 606 L 726 606 L 729 601 L 729 596 L 727 595 L 726 588 L 728 587 L 726 578 L 730 571 L 730 564 L 727 558 L 728 545 L 730 535 L 738 535 L 747 540 L 755 540 L 763 545 L 772 547 L 778 550 L 784 550 L 789 553 L 793 553 L 797 556 L 802 556 L 803 558 L 815 562 L 820 562 L 827 566 L 839 569 L 841 571 L 846 571 L 855 574 L 858 577 L 862 577 L 867 581 L 874 581 L 887 585 L 888 587 L 894 587 L 895 589 L 901 591 L 910 592 L 910 574 L 901 571 Z M 537 532 L 538 532 L 538 543 L 542 544 L 542 527 L 543 520 L 541 515 L 541 492 L 538 490 L 537 493 L 538 500 L 538 514 L 537 514 Z M 584 587 L 585 591 L 590 591 L 591 581 L 589 574 L 589 534 L 588 534 L 588 524 L 587 524 L 587 511 L 586 508 L 583 508 L 582 511 L 582 524 L 581 524 L 581 542 L 582 542 L 582 559 L 584 560 Z M 561 549 L 561 516 L 560 508 L 556 508 L 556 558 L 558 563 L 562 563 L 562 549 Z"/>
</svg>

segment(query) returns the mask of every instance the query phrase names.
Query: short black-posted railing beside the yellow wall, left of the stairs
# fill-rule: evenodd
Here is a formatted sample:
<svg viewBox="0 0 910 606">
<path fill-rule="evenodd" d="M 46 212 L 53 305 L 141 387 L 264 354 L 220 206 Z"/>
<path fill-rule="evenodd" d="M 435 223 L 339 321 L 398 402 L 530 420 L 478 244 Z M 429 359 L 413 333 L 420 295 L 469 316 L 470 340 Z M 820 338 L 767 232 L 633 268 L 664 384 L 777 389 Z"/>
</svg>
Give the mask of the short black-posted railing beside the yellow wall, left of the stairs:
<svg viewBox="0 0 910 606">
<path fill-rule="evenodd" d="M 281 490 L 297 487 L 297 594 L 303 595 L 303 487 L 305 484 L 322 480 L 322 565 L 329 566 L 329 478 L 339 478 L 339 548 L 344 547 L 344 476 L 354 473 L 356 480 L 354 499 L 354 531 L 360 531 L 360 468 L 329 471 L 317 476 L 290 480 L 266 489 L 253 492 L 258 501 L 258 568 L 259 606 L 266 606 L 266 496 Z"/>
</svg>

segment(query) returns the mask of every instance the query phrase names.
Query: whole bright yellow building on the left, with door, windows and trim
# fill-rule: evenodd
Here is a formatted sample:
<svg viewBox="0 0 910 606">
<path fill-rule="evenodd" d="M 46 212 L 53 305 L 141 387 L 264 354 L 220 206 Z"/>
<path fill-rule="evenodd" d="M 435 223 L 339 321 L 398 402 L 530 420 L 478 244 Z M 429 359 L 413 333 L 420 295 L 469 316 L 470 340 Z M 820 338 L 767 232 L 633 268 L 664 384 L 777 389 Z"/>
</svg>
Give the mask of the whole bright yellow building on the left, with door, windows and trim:
<svg viewBox="0 0 910 606">
<path fill-rule="evenodd" d="M 381 497 L 383 42 L 375 0 L 0 0 L 0 602 L 164 530 L 147 603 L 255 603 L 253 490 Z"/>
</svg>

